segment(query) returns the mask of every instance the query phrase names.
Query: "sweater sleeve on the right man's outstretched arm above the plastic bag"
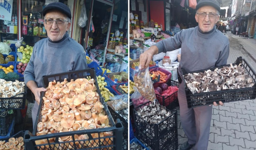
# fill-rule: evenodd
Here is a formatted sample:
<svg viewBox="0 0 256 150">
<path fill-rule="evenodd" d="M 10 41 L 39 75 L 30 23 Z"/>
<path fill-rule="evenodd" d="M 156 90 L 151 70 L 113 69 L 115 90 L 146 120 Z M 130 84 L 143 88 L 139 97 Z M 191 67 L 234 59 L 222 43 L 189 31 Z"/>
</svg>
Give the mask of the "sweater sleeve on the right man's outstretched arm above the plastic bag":
<svg viewBox="0 0 256 150">
<path fill-rule="evenodd" d="M 158 54 L 161 52 L 172 51 L 180 48 L 183 32 L 184 30 L 181 30 L 180 32 L 175 34 L 175 36 L 157 42 L 155 46 L 158 48 Z"/>
</svg>

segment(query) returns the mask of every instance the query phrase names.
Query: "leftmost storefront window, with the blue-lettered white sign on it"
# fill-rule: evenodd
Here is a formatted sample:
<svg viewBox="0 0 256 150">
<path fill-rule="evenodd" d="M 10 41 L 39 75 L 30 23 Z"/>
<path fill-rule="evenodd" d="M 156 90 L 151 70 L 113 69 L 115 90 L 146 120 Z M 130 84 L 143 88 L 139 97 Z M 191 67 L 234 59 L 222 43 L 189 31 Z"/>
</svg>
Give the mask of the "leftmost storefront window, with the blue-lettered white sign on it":
<svg viewBox="0 0 256 150">
<path fill-rule="evenodd" d="M 0 2 L 0 42 L 15 44 L 18 38 L 17 0 Z"/>
</svg>

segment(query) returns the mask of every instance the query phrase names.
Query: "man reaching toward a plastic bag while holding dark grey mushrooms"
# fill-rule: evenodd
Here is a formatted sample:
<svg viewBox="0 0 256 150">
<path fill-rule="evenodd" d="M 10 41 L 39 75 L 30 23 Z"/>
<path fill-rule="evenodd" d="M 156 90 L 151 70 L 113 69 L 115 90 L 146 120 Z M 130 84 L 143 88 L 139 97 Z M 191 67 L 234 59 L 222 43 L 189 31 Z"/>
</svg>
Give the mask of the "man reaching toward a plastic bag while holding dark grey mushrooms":
<svg viewBox="0 0 256 150">
<path fill-rule="evenodd" d="M 140 55 L 142 68 L 147 67 L 154 54 L 182 48 L 179 66 L 188 72 L 226 65 L 229 54 L 229 40 L 215 24 L 219 20 L 220 5 L 216 0 L 200 0 L 196 6 L 198 26 L 181 30 L 174 37 L 156 43 Z M 212 105 L 188 108 L 184 81 L 178 90 L 180 120 L 188 141 L 180 150 L 207 150 L 212 117 Z M 214 106 L 218 106 L 216 102 Z M 219 102 L 223 105 L 222 102 Z"/>
</svg>

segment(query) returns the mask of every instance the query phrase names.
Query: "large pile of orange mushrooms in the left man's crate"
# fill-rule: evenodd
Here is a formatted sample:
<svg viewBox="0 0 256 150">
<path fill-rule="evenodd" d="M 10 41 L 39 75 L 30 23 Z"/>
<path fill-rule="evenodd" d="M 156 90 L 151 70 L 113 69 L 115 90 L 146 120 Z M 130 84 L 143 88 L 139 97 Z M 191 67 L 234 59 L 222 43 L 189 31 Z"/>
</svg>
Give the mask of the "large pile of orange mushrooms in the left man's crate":
<svg viewBox="0 0 256 150">
<path fill-rule="evenodd" d="M 54 80 L 53 82 L 49 82 L 49 86 L 46 89 L 47 91 L 43 97 L 41 122 L 37 124 L 37 136 L 110 127 L 108 116 L 104 111 L 104 105 L 100 102 L 100 96 L 97 93 L 94 79 L 79 78 L 75 81 L 71 79 L 70 82 L 66 78 L 63 82 L 56 82 Z M 98 133 L 91 135 L 93 138 L 98 138 Z M 100 137 L 112 135 L 112 132 L 100 133 Z M 87 134 L 75 134 L 74 137 L 75 140 L 87 140 L 89 138 Z M 49 140 L 50 143 L 55 141 L 54 138 Z M 103 139 L 101 140 L 103 142 Z M 58 141 L 72 141 L 72 136 L 60 137 Z M 105 139 L 104 144 L 110 145 L 112 141 L 113 139 Z M 36 141 L 37 145 L 46 143 L 48 143 L 47 139 Z M 74 143 L 67 142 L 65 144 L 67 145 L 62 144 L 61 147 L 72 149 Z M 86 146 L 96 147 L 98 142 L 94 140 L 84 142 L 84 144 L 81 144 L 81 142 L 76 142 L 75 144 L 80 148 Z"/>
</svg>

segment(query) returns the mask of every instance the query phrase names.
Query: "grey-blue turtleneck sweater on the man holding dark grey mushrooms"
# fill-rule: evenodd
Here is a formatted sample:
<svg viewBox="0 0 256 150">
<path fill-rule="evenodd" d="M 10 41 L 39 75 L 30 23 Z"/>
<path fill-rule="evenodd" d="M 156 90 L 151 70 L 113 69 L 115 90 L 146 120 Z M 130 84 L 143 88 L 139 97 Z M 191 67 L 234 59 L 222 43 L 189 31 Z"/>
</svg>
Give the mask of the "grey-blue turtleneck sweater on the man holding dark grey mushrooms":
<svg viewBox="0 0 256 150">
<path fill-rule="evenodd" d="M 198 26 L 181 30 L 175 36 L 157 42 L 158 53 L 181 47 L 179 68 L 187 72 L 213 68 L 227 64 L 229 40 L 215 26 L 209 32 L 202 32 Z"/>
</svg>

